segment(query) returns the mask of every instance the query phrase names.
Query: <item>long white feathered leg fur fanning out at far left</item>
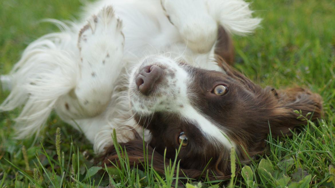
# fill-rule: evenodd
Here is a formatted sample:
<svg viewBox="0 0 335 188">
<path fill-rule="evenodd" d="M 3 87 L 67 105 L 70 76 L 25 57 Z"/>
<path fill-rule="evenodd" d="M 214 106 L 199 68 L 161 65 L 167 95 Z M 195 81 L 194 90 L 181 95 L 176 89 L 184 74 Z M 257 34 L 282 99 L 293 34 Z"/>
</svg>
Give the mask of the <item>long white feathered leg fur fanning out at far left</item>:
<svg viewBox="0 0 335 188">
<path fill-rule="evenodd" d="M 46 35 L 31 43 L 11 74 L 11 93 L 0 110 L 13 110 L 24 104 L 16 118 L 17 138 L 39 133 L 59 96 L 76 84 L 78 65 L 67 33 Z"/>
</svg>

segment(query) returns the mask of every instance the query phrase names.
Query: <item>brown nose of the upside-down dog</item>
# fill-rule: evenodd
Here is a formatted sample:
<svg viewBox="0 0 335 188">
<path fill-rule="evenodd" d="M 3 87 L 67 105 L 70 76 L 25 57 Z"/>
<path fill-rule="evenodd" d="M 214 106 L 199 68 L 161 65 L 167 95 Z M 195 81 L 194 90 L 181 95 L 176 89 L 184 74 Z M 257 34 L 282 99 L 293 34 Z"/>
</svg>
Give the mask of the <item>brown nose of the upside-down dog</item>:
<svg viewBox="0 0 335 188">
<path fill-rule="evenodd" d="M 143 95 L 149 95 L 162 72 L 157 65 L 143 67 L 135 79 L 138 90 Z"/>
</svg>

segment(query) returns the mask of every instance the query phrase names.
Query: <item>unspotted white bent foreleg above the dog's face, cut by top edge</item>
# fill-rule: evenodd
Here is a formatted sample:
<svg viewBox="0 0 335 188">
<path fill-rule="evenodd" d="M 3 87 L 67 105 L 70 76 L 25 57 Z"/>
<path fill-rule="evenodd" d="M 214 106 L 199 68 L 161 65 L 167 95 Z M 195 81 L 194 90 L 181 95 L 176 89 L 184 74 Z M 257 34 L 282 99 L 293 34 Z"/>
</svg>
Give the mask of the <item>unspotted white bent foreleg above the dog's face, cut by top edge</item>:
<svg viewBox="0 0 335 188">
<path fill-rule="evenodd" d="M 161 5 L 191 50 L 207 53 L 212 49 L 218 24 L 208 13 L 203 0 L 161 0 Z"/>
</svg>

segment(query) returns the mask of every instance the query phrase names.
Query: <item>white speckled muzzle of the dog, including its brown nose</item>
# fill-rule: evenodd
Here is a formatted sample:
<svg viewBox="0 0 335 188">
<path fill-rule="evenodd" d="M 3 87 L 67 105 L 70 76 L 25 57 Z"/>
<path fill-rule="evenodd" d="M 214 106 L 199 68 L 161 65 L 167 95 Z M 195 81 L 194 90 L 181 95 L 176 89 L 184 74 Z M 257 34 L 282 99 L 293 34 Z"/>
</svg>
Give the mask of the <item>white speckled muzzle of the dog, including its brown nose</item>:
<svg viewBox="0 0 335 188">
<path fill-rule="evenodd" d="M 132 110 L 140 115 L 176 111 L 175 108 L 187 100 L 188 67 L 163 56 L 151 56 L 144 60 L 130 78 Z"/>
</svg>

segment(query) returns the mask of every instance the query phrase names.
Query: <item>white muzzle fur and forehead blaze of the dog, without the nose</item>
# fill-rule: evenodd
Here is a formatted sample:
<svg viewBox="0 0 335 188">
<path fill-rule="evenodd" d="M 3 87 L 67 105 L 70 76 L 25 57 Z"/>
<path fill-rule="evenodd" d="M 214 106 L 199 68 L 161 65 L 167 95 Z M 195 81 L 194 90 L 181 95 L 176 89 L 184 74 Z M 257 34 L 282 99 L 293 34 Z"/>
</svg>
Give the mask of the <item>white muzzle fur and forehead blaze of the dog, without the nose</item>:
<svg viewBox="0 0 335 188">
<path fill-rule="evenodd" d="M 138 92 L 131 92 L 130 100 L 133 103 L 133 110 L 138 114 L 145 115 L 164 111 L 179 114 L 184 121 L 191 122 L 194 126 L 197 126 L 209 142 L 218 146 L 224 145 L 229 149 L 235 146 L 236 144 L 228 138 L 222 128 L 219 128 L 219 125 L 210 121 L 209 117 L 199 112 L 197 107 L 190 103 L 191 100 L 196 98 L 196 95 L 189 93 L 188 89 L 188 85 L 192 85 L 192 82 L 195 81 L 192 79 L 192 75 L 190 75 L 183 66 L 179 66 L 178 63 L 169 58 L 151 57 L 150 59 L 152 59 L 150 62 L 146 61 L 141 67 L 153 64 L 161 65 L 162 67 L 167 67 L 164 71 L 173 71 L 174 76 L 164 77 L 164 79 L 166 79 L 165 83 L 169 83 L 167 85 L 164 84 L 164 86 L 160 86 L 158 83 L 153 94 L 154 97 L 140 96 L 137 94 Z M 133 73 L 136 74 L 136 72 Z M 133 78 L 136 77 L 134 74 L 132 75 Z M 130 83 L 130 88 L 137 89 L 134 84 L 135 83 Z M 140 106 L 145 106 L 145 108 L 139 108 Z"/>
</svg>

